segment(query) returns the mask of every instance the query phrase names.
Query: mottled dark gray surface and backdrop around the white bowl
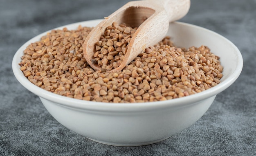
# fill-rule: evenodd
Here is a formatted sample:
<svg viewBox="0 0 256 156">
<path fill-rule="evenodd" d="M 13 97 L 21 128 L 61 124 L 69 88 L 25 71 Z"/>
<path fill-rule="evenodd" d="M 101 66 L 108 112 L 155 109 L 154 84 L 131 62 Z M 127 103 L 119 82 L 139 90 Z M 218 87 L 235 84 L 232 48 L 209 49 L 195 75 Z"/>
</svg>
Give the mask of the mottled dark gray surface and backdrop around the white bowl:
<svg viewBox="0 0 256 156">
<path fill-rule="evenodd" d="M 58 26 L 108 16 L 128 0 L 0 0 L 1 156 L 255 156 L 256 0 L 192 0 L 182 22 L 216 31 L 240 49 L 240 77 L 194 125 L 165 141 L 115 147 L 58 123 L 15 79 L 11 61 L 27 40 Z M 226 60 L 228 61 L 228 60 Z"/>
</svg>

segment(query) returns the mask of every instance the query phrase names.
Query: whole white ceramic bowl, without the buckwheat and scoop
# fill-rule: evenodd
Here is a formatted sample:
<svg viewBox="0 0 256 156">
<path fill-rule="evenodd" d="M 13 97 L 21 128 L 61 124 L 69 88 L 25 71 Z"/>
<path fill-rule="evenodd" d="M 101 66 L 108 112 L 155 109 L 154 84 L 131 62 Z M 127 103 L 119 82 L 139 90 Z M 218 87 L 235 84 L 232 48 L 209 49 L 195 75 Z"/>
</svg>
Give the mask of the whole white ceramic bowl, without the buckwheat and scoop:
<svg viewBox="0 0 256 156">
<path fill-rule="evenodd" d="M 56 29 L 96 26 L 101 20 L 69 24 Z M 162 141 L 195 123 L 208 110 L 216 94 L 228 88 L 240 75 L 243 59 L 238 48 L 221 35 L 199 26 L 174 22 L 168 34 L 180 47 L 205 45 L 220 56 L 221 83 L 209 90 L 178 99 L 146 103 L 102 103 L 63 97 L 32 84 L 20 71 L 23 50 L 40 40 L 42 33 L 22 45 L 13 57 L 15 77 L 38 95 L 50 114 L 68 129 L 99 143 L 118 146 L 147 145 Z M 163 36 L 164 37 L 164 36 Z"/>
</svg>

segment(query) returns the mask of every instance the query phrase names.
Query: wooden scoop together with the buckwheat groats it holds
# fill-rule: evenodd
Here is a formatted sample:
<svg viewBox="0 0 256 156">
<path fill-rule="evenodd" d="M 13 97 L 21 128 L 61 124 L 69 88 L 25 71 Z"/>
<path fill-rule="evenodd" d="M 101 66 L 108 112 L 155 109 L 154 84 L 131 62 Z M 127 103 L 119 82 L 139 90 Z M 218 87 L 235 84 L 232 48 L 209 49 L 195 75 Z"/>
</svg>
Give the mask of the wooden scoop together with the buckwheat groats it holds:
<svg viewBox="0 0 256 156">
<path fill-rule="evenodd" d="M 182 18 L 189 7 L 190 0 L 128 2 L 92 29 L 83 44 L 84 57 L 94 70 L 119 72 L 145 48 L 162 40 L 169 22 Z M 115 61 L 112 56 L 117 54 L 121 59 Z"/>
</svg>

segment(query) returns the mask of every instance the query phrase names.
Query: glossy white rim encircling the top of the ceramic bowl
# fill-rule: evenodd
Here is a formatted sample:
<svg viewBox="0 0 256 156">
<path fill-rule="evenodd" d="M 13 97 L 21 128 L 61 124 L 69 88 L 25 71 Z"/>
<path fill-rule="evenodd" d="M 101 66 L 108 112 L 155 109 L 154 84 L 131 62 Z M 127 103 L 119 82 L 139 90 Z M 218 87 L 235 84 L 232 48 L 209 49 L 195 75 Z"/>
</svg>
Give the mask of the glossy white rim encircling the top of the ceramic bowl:
<svg viewBox="0 0 256 156">
<path fill-rule="evenodd" d="M 93 26 L 99 22 L 101 22 L 103 19 L 97 19 L 97 20 L 88 20 L 88 21 L 82 21 L 82 22 L 76 22 L 72 24 L 67 24 L 64 26 L 59 26 L 57 28 L 51 29 L 63 29 L 64 27 L 69 26 Z M 67 106 L 70 108 L 77 108 L 77 109 L 83 109 L 83 110 L 101 110 L 101 111 L 122 111 L 122 112 L 130 112 L 130 111 L 141 111 L 141 110 L 155 110 L 159 108 L 176 108 L 176 107 L 184 107 L 188 105 L 192 105 L 193 103 L 197 103 L 198 101 L 207 99 L 209 97 L 213 97 L 216 94 L 222 92 L 229 86 L 231 86 L 234 81 L 239 77 L 242 68 L 243 68 L 243 57 L 239 51 L 239 49 L 227 38 L 223 37 L 222 35 L 211 31 L 209 29 L 205 29 L 200 26 L 196 26 L 193 24 L 188 24 L 184 22 L 173 22 L 173 24 L 180 24 L 185 26 L 194 27 L 197 29 L 202 29 L 203 31 L 208 31 L 209 33 L 213 33 L 214 35 L 217 35 L 218 37 L 221 37 L 223 40 L 228 42 L 232 48 L 234 48 L 234 52 L 237 55 L 238 62 L 236 64 L 236 68 L 234 70 L 234 73 L 231 73 L 231 75 L 225 79 L 224 81 L 221 81 L 217 86 L 214 86 L 213 88 L 210 88 L 208 90 L 204 90 L 203 92 L 199 92 L 197 94 L 189 95 L 187 97 L 181 97 L 177 99 L 171 99 L 171 100 L 165 100 L 165 101 L 155 101 L 155 102 L 144 102 L 144 103 L 104 103 L 104 102 L 94 102 L 94 101 L 85 101 L 80 99 L 74 99 L 70 97 L 65 97 L 59 94 L 55 94 L 52 92 L 49 92 L 47 90 L 44 90 L 33 83 L 31 83 L 22 73 L 20 70 L 20 66 L 18 63 L 20 62 L 21 58 L 19 57 L 24 49 L 36 38 L 39 38 L 43 35 L 45 35 L 49 31 L 45 31 L 44 33 L 40 33 L 39 35 L 36 35 L 35 37 L 31 38 L 25 44 L 23 44 L 18 51 L 16 51 L 15 55 L 13 56 L 12 60 L 12 70 L 16 77 L 16 79 L 27 88 L 27 90 L 31 91 L 32 93 L 38 95 L 40 98 L 47 99 L 49 101 L 52 101 L 54 103 L 58 103 L 59 105 Z M 34 41 L 33 41 L 34 42 Z"/>
</svg>

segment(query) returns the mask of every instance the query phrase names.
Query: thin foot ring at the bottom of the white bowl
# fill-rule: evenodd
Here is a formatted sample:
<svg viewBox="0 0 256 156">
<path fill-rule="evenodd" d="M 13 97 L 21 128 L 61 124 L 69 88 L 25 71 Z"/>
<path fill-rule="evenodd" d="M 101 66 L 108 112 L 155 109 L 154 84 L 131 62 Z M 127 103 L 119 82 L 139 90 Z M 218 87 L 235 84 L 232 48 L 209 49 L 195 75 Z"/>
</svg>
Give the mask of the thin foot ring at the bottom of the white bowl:
<svg viewBox="0 0 256 156">
<path fill-rule="evenodd" d="M 95 139 L 92 139 L 92 138 L 88 138 L 92 141 L 95 141 L 97 143 L 102 143 L 102 144 L 106 144 L 106 145 L 112 145 L 112 146 L 123 146 L 123 147 L 131 147 L 131 146 L 144 146 L 144 145 L 150 145 L 150 144 L 153 144 L 153 143 L 158 143 L 160 141 L 164 141 L 168 138 L 170 138 L 171 136 L 168 136 L 166 138 L 161 138 L 159 140 L 155 140 L 155 141 L 149 141 L 149 142 L 142 142 L 142 143 L 112 143 L 112 142 L 108 142 L 108 141 L 99 141 L 99 140 L 95 140 Z"/>
</svg>

